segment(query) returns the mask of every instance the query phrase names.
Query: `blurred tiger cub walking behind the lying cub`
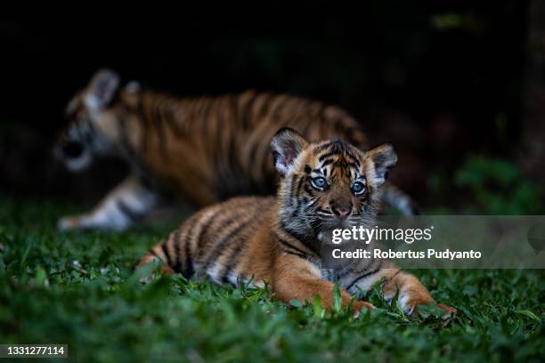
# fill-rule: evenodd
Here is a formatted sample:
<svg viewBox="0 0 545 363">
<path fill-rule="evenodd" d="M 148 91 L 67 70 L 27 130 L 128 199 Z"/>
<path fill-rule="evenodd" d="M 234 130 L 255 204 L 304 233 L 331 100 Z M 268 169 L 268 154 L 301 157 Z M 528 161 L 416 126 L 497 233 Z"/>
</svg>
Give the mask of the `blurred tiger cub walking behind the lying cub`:
<svg viewBox="0 0 545 363">
<path fill-rule="evenodd" d="M 240 195 L 273 195 L 268 142 L 283 126 L 308 140 L 340 137 L 358 147 L 360 125 L 342 109 L 289 95 L 256 93 L 177 99 L 120 86 L 99 71 L 69 102 L 69 128 L 56 154 L 72 171 L 97 156 L 124 158 L 132 173 L 89 213 L 62 218 L 61 230 L 125 230 L 148 214 L 165 187 L 193 206 Z M 411 199 L 386 186 L 383 199 L 411 214 Z"/>
</svg>

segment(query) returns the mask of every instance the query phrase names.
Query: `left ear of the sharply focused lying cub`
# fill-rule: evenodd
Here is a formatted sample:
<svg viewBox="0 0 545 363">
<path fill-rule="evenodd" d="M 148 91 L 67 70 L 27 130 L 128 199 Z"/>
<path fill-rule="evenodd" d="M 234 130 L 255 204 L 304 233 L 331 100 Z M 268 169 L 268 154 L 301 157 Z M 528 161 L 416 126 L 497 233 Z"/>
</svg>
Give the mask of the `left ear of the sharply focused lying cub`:
<svg viewBox="0 0 545 363">
<path fill-rule="evenodd" d="M 288 127 L 282 128 L 273 136 L 271 150 L 274 166 L 282 177 L 288 175 L 297 156 L 308 146 L 308 142 L 297 131 Z"/>
</svg>

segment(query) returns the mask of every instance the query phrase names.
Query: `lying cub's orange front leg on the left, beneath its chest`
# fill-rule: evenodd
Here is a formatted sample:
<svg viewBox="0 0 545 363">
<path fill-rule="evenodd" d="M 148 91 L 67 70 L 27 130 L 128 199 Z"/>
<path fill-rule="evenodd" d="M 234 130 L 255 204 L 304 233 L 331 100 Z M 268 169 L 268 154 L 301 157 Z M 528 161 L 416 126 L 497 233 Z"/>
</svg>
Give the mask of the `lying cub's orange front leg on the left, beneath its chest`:
<svg viewBox="0 0 545 363">
<path fill-rule="evenodd" d="M 314 295 L 318 294 L 321 296 L 321 306 L 331 311 L 335 285 L 321 279 L 320 271 L 310 262 L 291 254 L 283 254 L 275 263 L 272 280 L 273 293 L 282 301 L 289 303 L 297 299 L 302 303 L 305 300 L 312 302 Z M 339 292 L 343 307 L 346 307 L 352 301 L 352 296 L 343 289 L 339 289 Z M 362 301 L 354 301 L 352 304 L 355 312 L 364 308 L 373 309 L 374 306 Z"/>
</svg>

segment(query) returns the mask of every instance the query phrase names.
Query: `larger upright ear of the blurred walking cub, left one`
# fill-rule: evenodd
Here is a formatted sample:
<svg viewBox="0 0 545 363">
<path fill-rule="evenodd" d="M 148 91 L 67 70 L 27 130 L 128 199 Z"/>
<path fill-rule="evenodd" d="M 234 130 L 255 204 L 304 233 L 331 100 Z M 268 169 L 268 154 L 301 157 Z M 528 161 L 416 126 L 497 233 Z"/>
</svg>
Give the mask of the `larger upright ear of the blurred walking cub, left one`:
<svg viewBox="0 0 545 363">
<path fill-rule="evenodd" d="M 99 70 L 87 88 L 85 106 L 89 109 L 104 109 L 113 101 L 118 88 L 118 73 L 110 69 Z"/>
</svg>

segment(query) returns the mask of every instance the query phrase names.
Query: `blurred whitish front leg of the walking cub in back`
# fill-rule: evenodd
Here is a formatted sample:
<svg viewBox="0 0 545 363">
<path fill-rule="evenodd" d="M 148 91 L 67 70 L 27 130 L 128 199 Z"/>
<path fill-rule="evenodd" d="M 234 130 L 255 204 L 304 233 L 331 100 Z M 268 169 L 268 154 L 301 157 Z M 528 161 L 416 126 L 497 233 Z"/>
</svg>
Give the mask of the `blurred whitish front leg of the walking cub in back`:
<svg viewBox="0 0 545 363">
<path fill-rule="evenodd" d="M 90 212 L 63 217 L 59 230 L 126 230 L 156 205 L 156 194 L 133 175 L 122 181 Z"/>
</svg>

